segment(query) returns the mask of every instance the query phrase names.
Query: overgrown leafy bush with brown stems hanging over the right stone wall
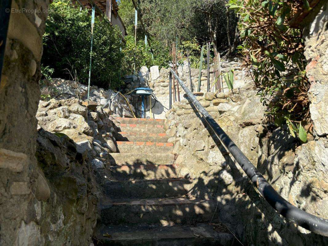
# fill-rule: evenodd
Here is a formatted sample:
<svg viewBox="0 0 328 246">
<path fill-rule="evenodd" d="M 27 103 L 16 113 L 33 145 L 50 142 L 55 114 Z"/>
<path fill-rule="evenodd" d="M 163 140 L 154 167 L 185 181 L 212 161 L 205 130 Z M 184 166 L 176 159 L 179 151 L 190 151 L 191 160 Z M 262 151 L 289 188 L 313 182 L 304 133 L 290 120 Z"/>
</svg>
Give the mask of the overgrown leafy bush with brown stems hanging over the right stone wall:
<svg viewBox="0 0 328 246">
<path fill-rule="evenodd" d="M 254 74 L 258 94 L 277 126 L 287 124 L 290 133 L 306 141 L 302 125 L 310 119 L 305 75 L 306 60 L 300 30 L 289 23 L 307 0 L 230 0 L 240 18 L 243 44 L 238 49 Z"/>
</svg>

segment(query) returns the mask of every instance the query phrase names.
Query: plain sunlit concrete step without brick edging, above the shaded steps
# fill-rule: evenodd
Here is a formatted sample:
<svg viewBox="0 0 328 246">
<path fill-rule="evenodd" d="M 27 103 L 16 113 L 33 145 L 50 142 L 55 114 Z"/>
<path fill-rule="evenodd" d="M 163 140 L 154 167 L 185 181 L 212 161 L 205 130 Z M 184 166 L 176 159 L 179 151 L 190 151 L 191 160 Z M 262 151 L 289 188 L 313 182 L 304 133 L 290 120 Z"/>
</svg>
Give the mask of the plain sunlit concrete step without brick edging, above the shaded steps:
<svg viewBox="0 0 328 246">
<path fill-rule="evenodd" d="M 158 164 L 169 165 L 174 162 L 174 154 L 161 153 L 111 153 L 111 165 Z"/>
</svg>

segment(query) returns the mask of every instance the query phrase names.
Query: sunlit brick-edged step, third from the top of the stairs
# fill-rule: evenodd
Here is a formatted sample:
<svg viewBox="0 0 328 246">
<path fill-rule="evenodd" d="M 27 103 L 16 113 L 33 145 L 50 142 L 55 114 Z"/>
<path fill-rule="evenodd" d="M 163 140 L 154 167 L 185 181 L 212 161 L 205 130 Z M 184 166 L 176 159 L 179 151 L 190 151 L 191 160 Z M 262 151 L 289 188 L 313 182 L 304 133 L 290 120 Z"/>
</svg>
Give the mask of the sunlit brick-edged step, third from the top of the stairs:
<svg viewBox="0 0 328 246">
<path fill-rule="evenodd" d="M 118 132 L 114 134 L 117 141 L 167 142 L 166 133 Z"/>
</svg>

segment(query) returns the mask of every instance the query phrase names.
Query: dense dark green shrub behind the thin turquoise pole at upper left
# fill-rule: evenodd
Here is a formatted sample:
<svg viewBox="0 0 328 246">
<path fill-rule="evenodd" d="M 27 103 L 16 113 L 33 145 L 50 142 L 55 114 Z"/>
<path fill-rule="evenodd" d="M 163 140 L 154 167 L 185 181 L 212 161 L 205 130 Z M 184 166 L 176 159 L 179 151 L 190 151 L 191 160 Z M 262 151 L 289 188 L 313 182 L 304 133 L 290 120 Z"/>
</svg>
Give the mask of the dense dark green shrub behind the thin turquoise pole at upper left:
<svg viewBox="0 0 328 246">
<path fill-rule="evenodd" d="M 118 27 L 95 17 L 93 30 L 91 84 L 104 88 L 118 88 L 123 53 Z M 52 77 L 70 79 L 70 71 L 77 71 L 77 80 L 88 84 L 91 45 L 91 16 L 70 0 L 54 0 L 49 8 L 44 35 L 42 63 L 54 69 Z"/>
</svg>

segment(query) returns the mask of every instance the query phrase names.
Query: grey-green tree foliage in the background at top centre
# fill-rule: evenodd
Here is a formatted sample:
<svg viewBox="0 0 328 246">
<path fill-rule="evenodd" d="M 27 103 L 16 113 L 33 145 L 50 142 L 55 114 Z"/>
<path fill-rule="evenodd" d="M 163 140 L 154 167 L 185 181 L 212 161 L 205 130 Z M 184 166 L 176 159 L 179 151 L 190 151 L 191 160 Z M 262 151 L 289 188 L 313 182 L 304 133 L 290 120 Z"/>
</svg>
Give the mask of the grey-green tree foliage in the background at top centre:
<svg viewBox="0 0 328 246">
<path fill-rule="evenodd" d="M 206 44 L 206 41 L 212 41 L 217 50 L 227 52 L 231 48 L 228 40 L 231 40 L 230 46 L 233 46 L 235 40 L 237 19 L 234 11 L 226 8 L 226 3 L 227 0 L 140 0 L 138 11 L 151 35 L 152 43 L 157 41 L 161 47 L 170 49 L 177 37 L 179 44 L 196 39 L 199 47 Z M 122 20 L 127 29 L 132 30 L 134 7 L 131 1 L 123 0 L 119 6 L 120 15 L 124 16 Z M 143 30 L 138 28 L 137 40 L 143 39 L 143 35 Z M 200 56 L 200 48 L 197 55 Z"/>
</svg>

